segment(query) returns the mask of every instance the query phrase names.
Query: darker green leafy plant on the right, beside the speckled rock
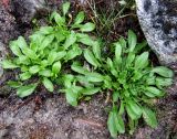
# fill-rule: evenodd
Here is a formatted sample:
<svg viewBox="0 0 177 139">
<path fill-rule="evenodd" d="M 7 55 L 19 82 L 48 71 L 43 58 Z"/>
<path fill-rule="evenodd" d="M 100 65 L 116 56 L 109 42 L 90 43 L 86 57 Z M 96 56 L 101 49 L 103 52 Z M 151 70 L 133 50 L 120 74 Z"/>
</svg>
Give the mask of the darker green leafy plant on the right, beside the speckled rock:
<svg viewBox="0 0 177 139">
<path fill-rule="evenodd" d="M 128 31 L 128 39 L 119 39 L 113 44 L 112 57 L 103 58 L 100 45 L 84 50 L 84 57 L 92 67 L 74 63 L 72 70 L 79 75 L 66 75 L 65 92 L 67 101 L 76 105 L 84 95 L 108 92 L 113 107 L 107 127 L 112 137 L 125 132 L 128 122 L 133 133 L 138 119 L 150 127 L 157 126 L 155 113 L 149 108 L 152 100 L 165 95 L 164 87 L 171 85 L 173 72 L 164 66 L 149 65 L 148 52 L 140 53 L 145 43 L 137 44 L 136 34 Z"/>
</svg>

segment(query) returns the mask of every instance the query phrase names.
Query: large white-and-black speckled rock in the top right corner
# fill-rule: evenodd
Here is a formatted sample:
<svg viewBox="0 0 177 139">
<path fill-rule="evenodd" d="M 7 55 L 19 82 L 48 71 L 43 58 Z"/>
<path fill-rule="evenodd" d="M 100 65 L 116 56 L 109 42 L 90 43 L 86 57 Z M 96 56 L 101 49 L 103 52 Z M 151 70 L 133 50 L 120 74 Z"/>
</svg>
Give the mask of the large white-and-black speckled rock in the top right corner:
<svg viewBox="0 0 177 139">
<path fill-rule="evenodd" d="M 139 23 L 163 65 L 177 70 L 177 0 L 136 0 Z"/>
</svg>

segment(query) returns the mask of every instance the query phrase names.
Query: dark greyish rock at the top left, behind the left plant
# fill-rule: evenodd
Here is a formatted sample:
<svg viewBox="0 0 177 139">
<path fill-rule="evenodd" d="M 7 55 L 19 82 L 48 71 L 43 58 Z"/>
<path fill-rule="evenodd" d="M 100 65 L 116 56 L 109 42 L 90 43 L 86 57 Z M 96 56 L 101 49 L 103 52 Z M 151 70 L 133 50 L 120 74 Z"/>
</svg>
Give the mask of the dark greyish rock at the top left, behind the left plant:
<svg viewBox="0 0 177 139">
<path fill-rule="evenodd" d="M 29 23 L 34 17 L 48 13 L 45 0 L 12 0 L 13 13 L 22 23 Z"/>
</svg>

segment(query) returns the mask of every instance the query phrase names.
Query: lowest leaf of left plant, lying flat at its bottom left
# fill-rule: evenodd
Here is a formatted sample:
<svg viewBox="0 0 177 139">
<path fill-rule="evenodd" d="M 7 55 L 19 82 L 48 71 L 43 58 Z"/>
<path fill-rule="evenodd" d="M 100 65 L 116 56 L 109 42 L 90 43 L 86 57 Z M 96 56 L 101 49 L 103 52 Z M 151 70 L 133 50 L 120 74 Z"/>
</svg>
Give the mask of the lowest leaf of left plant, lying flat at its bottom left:
<svg viewBox="0 0 177 139">
<path fill-rule="evenodd" d="M 21 86 L 21 87 L 18 88 L 17 95 L 21 98 L 27 97 L 34 92 L 37 86 L 38 86 L 38 84 Z"/>
</svg>

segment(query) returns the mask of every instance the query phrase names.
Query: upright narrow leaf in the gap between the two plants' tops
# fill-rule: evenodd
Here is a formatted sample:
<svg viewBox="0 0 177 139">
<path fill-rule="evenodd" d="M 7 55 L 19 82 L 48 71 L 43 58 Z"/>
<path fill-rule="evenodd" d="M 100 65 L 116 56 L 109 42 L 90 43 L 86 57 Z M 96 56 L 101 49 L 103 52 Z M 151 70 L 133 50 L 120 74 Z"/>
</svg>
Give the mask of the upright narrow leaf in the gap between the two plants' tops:
<svg viewBox="0 0 177 139">
<path fill-rule="evenodd" d="M 98 41 L 93 42 L 92 51 L 93 51 L 95 57 L 97 60 L 102 61 L 102 57 L 101 57 L 101 44 L 100 44 Z"/>
</svg>

